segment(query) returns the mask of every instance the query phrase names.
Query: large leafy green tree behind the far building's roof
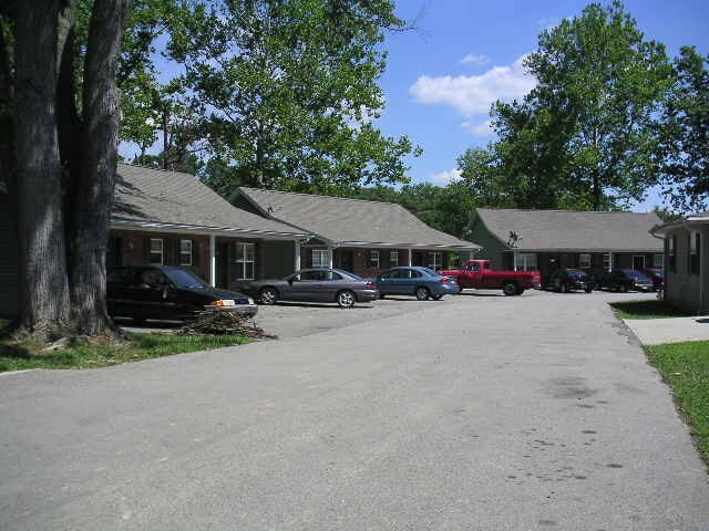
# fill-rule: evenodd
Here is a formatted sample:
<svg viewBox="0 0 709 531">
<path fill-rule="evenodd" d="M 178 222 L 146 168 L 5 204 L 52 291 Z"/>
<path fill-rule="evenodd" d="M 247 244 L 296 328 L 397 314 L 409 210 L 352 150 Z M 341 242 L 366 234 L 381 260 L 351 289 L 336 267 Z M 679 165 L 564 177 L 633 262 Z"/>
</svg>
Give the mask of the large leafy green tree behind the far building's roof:
<svg viewBox="0 0 709 531">
<path fill-rule="evenodd" d="M 543 31 L 524 64 L 536 87 L 491 113 L 493 190 L 528 208 L 641 199 L 660 176 L 655 129 L 672 83 L 665 48 L 645 39 L 620 2 L 592 3 Z"/>
</svg>

